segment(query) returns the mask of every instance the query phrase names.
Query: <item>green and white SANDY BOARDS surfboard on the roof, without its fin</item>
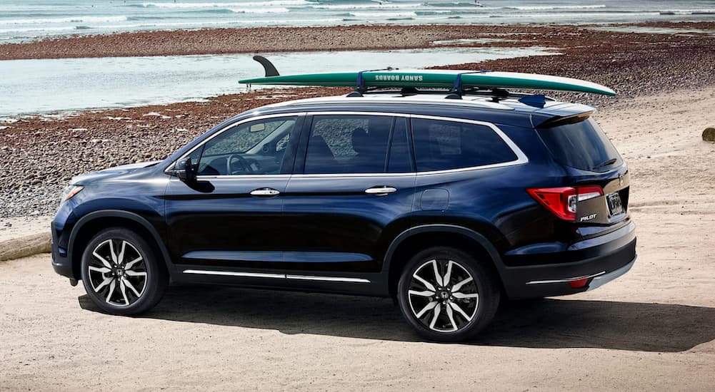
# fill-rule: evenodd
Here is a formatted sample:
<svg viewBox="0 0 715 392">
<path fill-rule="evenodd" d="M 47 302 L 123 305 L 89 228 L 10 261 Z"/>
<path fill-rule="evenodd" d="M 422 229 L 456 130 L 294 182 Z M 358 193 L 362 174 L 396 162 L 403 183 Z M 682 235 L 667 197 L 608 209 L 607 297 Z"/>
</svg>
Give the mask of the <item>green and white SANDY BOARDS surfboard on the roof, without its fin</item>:
<svg viewBox="0 0 715 392">
<path fill-rule="evenodd" d="M 359 78 L 362 78 L 362 84 Z M 243 79 L 242 84 L 270 84 L 290 86 L 363 86 L 365 88 L 453 89 L 459 80 L 461 89 L 533 89 L 549 91 L 578 91 L 615 96 L 616 91 L 601 84 L 580 79 L 539 74 L 520 74 L 499 71 L 457 70 L 385 70 L 337 72 L 329 74 L 279 75 Z"/>
</svg>

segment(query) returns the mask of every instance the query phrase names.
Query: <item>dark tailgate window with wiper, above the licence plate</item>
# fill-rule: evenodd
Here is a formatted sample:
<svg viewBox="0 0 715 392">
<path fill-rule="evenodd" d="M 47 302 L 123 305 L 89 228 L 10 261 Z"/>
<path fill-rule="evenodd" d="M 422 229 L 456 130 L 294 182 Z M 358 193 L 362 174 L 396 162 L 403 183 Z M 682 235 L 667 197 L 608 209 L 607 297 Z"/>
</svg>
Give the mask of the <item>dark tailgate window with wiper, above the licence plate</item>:
<svg viewBox="0 0 715 392">
<path fill-rule="evenodd" d="M 553 159 L 564 166 L 607 171 L 621 165 L 621 156 L 593 119 L 537 129 Z"/>
</svg>

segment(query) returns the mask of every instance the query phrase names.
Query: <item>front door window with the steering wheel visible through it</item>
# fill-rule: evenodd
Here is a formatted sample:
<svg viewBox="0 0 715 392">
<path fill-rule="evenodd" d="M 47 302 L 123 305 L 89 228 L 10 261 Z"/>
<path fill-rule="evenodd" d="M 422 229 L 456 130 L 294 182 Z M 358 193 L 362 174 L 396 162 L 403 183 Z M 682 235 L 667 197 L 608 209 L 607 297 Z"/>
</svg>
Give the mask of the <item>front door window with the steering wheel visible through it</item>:
<svg viewBox="0 0 715 392">
<path fill-rule="evenodd" d="M 202 147 L 199 176 L 280 174 L 296 121 L 290 116 L 230 126 Z"/>
</svg>

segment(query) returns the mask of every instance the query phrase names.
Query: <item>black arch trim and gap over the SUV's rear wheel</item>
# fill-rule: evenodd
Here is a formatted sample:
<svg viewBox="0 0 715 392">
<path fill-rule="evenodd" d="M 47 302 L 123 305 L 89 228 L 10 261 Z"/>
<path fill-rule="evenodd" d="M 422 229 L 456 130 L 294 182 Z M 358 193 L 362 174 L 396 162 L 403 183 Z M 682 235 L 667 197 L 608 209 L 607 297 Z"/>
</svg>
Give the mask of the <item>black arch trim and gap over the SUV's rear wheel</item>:
<svg viewBox="0 0 715 392">
<path fill-rule="evenodd" d="M 486 236 L 463 226 L 435 223 L 403 231 L 390 243 L 388 251 L 385 253 L 383 273 L 388 274 L 387 283 L 391 296 L 395 296 L 400 272 L 409 258 L 418 251 L 432 246 L 455 246 L 473 253 L 475 256 L 488 258 L 491 261 L 488 266 L 493 268 L 493 272 L 499 278 L 497 283 L 501 290 L 504 290 L 502 271 L 505 266 L 499 252 Z"/>
</svg>

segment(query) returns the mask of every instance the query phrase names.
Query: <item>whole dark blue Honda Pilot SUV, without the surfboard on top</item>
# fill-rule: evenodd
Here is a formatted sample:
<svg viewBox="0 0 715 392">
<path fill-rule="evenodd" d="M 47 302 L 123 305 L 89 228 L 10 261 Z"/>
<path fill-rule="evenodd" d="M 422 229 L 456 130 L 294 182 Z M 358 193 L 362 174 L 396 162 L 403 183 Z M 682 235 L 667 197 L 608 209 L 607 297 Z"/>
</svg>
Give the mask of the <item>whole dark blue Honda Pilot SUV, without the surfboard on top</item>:
<svg viewBox="0 0 715 392">
<path fill-rule="evenodd" d="M 72 179 L 52 265 L 113 314 L 169 281 L 392 296 L 426 338 L 462 341 L 501 298 L 633 265 L 628 169 L 593 110 L 404 92 L 264 106 L 164 161 Z"/>
</svg>

